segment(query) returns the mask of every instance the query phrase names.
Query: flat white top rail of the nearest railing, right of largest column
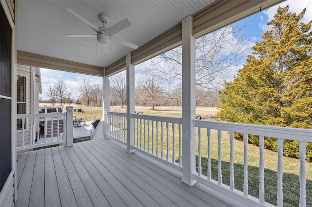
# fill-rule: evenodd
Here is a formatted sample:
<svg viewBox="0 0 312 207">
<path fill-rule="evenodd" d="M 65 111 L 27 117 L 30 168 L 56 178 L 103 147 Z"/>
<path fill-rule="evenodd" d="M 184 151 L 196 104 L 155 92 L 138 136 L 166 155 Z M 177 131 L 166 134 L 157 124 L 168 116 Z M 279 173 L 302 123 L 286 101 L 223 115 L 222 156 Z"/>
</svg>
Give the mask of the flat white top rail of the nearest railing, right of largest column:
<svg viewBox="0 0 312 207">
<path fill-rule="evenodd" d="M 193 124 L 201 128 L 312 142 L 312 129 L 204 120 L 193 120 Z"/>
</svg>

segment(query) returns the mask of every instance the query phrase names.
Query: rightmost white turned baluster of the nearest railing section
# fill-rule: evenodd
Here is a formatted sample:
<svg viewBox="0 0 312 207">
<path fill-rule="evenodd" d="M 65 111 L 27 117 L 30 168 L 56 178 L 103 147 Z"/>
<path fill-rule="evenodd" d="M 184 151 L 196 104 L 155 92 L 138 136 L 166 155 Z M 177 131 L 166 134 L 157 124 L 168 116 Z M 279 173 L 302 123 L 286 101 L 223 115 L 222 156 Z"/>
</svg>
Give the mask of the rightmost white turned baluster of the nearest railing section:
<svg viewBox="0 0 312 207">
<path fill-rule="evenodd" d="M 306 182 L 307 182 L 307 172 L 306 172 L 306 153 L 307 153 L 307 143 L 304 141 L 299 142 L 299 160 L 300 160 L 300 170 L 299 170 L 299 182 L 300 182 L 300 199 L 299 207 L 306 207 Z"/>
</svg>

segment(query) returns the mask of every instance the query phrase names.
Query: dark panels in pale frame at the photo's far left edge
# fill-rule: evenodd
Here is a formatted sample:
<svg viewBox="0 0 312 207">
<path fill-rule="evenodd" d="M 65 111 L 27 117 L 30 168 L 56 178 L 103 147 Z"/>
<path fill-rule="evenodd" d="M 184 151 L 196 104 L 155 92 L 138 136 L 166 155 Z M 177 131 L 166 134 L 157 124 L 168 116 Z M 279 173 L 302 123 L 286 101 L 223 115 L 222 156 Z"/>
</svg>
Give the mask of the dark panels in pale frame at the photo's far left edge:
<svg viewBox="0 0 312 207">
<path fill-rule="evenodd" d="M 0 95 L 11 97 L 12 30 L 0 6 Z M 0 98 L 0 190 L 11 172 L 11 102 Z"/>
</svg>

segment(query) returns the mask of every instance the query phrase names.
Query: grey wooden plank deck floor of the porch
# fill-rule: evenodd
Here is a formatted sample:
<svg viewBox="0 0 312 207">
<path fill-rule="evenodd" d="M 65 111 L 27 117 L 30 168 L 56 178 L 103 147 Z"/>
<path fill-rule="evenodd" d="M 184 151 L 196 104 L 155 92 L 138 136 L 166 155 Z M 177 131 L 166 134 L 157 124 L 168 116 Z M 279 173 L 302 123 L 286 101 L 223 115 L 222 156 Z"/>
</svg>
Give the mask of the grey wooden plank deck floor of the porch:
<svg viewBox="0 0 312 207">
<path fill-rule="evenodd" d="M 109 139 L 26 152 L 17 162 L 16 207 L 229 206 L 200 183 Z M 227 203 L 227 204 L 226 204 Z M 238 205 L 237 205 L 238 206 Z"/>
</svg>

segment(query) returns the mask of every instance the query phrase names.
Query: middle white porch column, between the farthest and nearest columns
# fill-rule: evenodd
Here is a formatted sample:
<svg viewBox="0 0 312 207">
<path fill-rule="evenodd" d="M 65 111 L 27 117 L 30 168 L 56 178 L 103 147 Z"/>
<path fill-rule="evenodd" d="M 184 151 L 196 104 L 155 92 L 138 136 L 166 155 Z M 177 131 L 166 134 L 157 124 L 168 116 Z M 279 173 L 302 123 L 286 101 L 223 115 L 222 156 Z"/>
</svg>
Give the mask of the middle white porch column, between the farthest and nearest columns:
<svg viewBox="0 0 312 207">
<path fill-rule="evenodd" d="M 135 66 L 131 64 L 131 52 L 126 55 L 127 69 L 127 152 L 132 153 L 131 149 L 135 138 L 134 122 L 131 114 L 135 113 Z"/>
</svg>

